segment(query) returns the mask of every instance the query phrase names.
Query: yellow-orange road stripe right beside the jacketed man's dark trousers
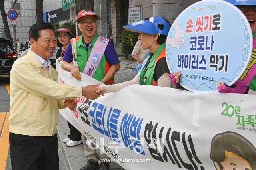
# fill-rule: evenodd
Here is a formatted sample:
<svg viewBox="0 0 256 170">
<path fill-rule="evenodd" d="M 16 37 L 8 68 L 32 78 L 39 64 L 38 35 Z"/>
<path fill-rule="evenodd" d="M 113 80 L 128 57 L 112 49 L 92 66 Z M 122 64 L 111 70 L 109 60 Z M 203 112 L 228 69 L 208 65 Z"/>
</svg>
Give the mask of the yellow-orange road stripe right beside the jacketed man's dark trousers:
<svg viewBox="0 0 256 170">
<path fill-rule="evenodd" d="M 4 127 L 0 137 L 0 170 L 5 170 L 9 150 L 9 115 L 7 112 Z"/>
</svg>

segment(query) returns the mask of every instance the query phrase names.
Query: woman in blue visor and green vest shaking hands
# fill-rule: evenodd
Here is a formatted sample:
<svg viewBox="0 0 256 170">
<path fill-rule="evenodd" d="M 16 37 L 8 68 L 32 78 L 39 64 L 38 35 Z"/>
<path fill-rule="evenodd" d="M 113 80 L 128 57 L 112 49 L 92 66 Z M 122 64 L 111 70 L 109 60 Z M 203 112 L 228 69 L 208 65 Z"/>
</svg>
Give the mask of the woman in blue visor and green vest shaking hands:
<svg viewBox="0 0 256 170">
<path fill-rule="evenodd" d="M 126 30 L 140 33 L 140 48 L 148 49 L 150 53 L 134 79 L 115 85 L 100 85 L 96 92 L 116 92 L 130 84 L 171 87 L 170 71 L 165 58 L 165 40 L 170 27 L 170 22 L 162 16 L 146 18 L 124 26 Z"/>
</svg>

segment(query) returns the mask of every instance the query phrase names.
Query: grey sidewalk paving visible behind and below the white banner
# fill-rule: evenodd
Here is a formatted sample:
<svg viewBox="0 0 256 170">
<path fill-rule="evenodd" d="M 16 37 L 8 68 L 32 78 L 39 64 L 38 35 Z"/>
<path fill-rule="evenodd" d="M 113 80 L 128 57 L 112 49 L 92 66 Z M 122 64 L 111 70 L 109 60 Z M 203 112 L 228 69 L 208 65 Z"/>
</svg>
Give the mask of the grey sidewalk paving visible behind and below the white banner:
<svg viewBox="0 0 256 170">
<path fill-rule="evenodd" d="M 135 77 L 135 73 L 132 72 L 131 65 L 134 65 L 134 61 L 120 57 L 120 69 L 114 77 L 115 83 L 122 83 L 124 81 L 132 80 Z M 87 160 L 84 155 L 83 145 L 79 144 L 74 147 L 67 147 L 62 140 L 69 134 L 68 123 L 64 117 L 59 115 L 59 122 L 57 126 L 58 142 L 64 162 L 67 170 L 79 170 L 82 168 Z M 97 150 L 97 152 L 100 152 Z M 119 164 L 115 162 L 110 163 L 110 169 L 124 170 Z"/>
</svg>

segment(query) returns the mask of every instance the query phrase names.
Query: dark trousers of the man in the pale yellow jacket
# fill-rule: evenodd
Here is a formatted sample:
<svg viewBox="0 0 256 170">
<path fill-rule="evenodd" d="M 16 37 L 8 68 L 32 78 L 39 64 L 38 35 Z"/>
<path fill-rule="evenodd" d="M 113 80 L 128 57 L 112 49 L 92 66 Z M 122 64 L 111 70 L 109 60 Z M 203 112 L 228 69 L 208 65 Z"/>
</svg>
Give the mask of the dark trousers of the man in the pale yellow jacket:
<svg viewBox="0 0 256 170">
<path fill-rule="evenodd" d="M 58 139 L 9 134 L 12 170 L 58 170 Z"/>
</svg>

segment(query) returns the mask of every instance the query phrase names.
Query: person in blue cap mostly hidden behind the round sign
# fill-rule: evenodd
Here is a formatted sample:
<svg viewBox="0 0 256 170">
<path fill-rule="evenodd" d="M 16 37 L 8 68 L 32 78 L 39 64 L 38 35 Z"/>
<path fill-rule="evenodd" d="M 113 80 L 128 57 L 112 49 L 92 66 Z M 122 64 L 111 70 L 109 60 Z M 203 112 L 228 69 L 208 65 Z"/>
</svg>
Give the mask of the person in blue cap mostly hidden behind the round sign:
<svg viewBox="0 0 256 170">
<path fill-rule="evenodd" d="M 225 0 L 226 2 L 229 2 L 233 5 L 235 5 L 237 8 L 239 8 L 244 15 L 246 16 L 251 29 L 254 41 L 256 42 L 256 0 Z M 234 35 L 235 36 L 235 35 Z M 253 49 L 255 49 L 256 44 L 253 44 Z M 184 89 L 179 85 L 179 77 L 181 75 L 181 72 L 175 72 L 170 75 L 170 78 L 172 79 L 172 84 L 174 87 L 178 89 Z M 250 89 L 249 89 L 250 87 Z M 250 85 L 245 86 L 241 81 L 235 82 L 233 85 L 228 86 L 224 82 L 220 83 L 218 82 L 218 91 L 221 93 L 248 93 L 248 94 L 256 94 L 256 76 L 252 79 L 250 82 Z"/>
</svg>

